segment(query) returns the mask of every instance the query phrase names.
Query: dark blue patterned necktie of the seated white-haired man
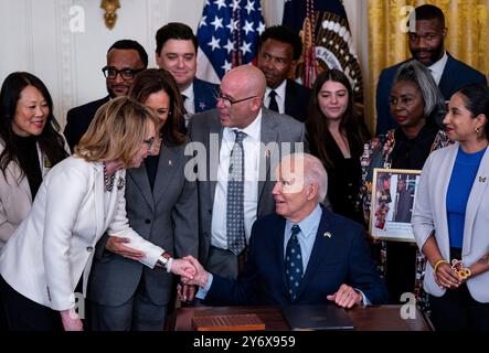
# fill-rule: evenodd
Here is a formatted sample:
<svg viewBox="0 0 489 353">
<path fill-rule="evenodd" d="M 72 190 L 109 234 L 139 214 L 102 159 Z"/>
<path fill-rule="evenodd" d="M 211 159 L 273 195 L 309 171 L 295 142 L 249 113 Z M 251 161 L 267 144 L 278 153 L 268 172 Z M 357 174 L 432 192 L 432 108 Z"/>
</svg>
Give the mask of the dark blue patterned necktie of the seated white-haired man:
<svg viewBox="0 0 489 353">
<path fill-rule="evenodd" d="M 299 290 L 300 280 L 302 279 L 302 253 L 300 252 L 300 244 L 297 239 L 300 228 L 297 224 L 293 226 L 293 235 L 287 243 L 285 252 L 285 271 L 287 276 L 287 285 L 291 300 L 296 300 L 297 291 Z"/>
</svg>

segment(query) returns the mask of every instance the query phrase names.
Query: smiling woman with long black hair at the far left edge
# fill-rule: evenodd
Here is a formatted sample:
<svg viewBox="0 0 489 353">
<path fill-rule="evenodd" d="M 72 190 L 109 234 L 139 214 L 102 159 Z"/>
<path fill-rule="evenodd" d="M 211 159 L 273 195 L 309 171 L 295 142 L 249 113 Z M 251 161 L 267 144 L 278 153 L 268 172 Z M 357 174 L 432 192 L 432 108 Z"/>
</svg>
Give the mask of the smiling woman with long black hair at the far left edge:
<svg viewBox="0 0 489 353">
<path fill-rule="evenodd" d="M 42 179 L 68 153 L 41 79 L 11 73 L 0 90 L 0 248 L 31 210 Z M 7 327 L 0 295 L 0 330 Z"/>
</svg>

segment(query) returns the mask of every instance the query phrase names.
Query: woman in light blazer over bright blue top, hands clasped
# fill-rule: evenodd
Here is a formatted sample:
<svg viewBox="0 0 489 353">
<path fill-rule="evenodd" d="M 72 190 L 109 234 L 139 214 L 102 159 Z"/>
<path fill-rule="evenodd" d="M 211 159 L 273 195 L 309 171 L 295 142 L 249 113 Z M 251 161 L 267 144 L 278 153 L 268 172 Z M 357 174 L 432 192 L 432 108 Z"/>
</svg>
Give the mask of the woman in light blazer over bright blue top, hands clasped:
<svg viewBox="0 0 489 353">
<path fill-rule="evenodd" d="M 448 109 L 444 125 L 457 143 L 426 161 L 412 224 L 429 264 L 435 328 L 489 330 L 489 87 L 464 87 Z"/>
</svg>

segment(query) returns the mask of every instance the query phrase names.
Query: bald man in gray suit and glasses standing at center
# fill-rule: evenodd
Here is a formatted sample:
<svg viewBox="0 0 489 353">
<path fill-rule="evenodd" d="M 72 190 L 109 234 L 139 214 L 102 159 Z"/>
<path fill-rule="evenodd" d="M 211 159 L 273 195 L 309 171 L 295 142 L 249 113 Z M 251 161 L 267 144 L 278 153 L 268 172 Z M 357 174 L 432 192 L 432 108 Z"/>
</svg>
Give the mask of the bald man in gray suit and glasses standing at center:
<svg viewBox="0 0 489 353">
<path fill-rule="evenodd" d="M 257 217 L 275 210 L 270 170 L 304 149 L 305 127 L 263 107 L 264 74 L 244 65 L 222 79 L 217 109 L 189 126 L 199 192 L 199 261 L 236 278 Z M 191 152 L 191 151 L 188 151 Z"/>
</svg>

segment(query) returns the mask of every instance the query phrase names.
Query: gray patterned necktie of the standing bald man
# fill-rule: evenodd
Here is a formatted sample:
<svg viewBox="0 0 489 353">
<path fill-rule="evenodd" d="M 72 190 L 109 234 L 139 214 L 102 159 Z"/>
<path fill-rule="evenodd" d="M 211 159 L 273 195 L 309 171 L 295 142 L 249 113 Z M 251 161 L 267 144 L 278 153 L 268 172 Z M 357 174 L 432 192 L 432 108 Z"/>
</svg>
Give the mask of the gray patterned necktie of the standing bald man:
<svg viewBox="0 0 489 353">
<path fill-rule="evenodd" d="M 236 137 L 230 158 L 227 178 L 226 231 L 227 248 L 240 255 L 246 247 L 244 232 L 244 150 L 243 140 L 246 133 L 234 131 Z"/>
</svg>

